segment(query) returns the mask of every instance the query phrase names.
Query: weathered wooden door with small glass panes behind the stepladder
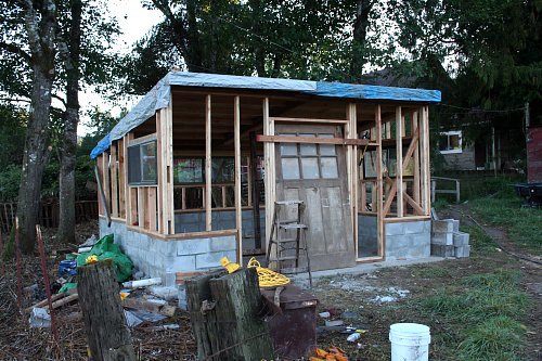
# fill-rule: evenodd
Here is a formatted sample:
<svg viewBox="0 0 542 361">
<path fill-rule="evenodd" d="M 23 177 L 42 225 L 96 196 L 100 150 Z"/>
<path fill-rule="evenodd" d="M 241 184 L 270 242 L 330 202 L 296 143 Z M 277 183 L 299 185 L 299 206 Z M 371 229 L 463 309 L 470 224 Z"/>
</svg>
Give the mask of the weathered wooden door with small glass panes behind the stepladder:
<svg viewBox="0 0 542 361">
<path fill-rule="evenodd" d="M 276 125 L 284 137 L 343 138 L 341 127 Z M 276 201 L 302 199 L 307 207 L 311 269 L 356 263 L 345 147 L 334 144 L 280 143 L 276 152 Z M 293 209 L 287 210 L 293 212 Z M 295 215 L 283 215 L 292 219 Z"/>
</svg>

